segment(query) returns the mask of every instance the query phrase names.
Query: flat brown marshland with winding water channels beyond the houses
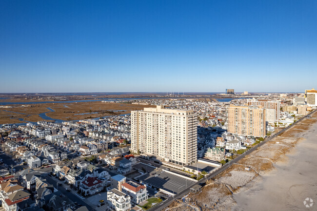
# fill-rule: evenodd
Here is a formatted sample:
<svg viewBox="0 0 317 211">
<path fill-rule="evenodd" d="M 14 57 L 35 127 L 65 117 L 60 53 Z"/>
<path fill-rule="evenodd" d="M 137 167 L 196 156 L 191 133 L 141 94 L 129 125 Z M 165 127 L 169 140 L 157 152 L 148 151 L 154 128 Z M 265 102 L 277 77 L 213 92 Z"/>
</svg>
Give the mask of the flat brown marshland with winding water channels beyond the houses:
<svg viewBox="0 0 317 211">
<path fill-rule="evenodd" d="M 101 101 L 32 104 L 28 107 L 16 105 L 14 108 L 0 108 L 0 124 L 24 122 L 19 120 L 19 118 L 23 118 L 26 121 L 32 122 L 41 121 L 43 119 L 39 116 L 39 114 L 49 112 L 50 110 L 48 110 L 47 108 L 55 110 L 55 112 L 49 112 L 46 114 L 51 118 L 62 120 L 80 120 L 97 118 L 107 115 L 129 114 L 131 111 L 142 110 L 144 107 L 154 106 L 125 103 L 102 103 Z M 21 114 L 13 112 L 18 112 Z"/>
</svg>

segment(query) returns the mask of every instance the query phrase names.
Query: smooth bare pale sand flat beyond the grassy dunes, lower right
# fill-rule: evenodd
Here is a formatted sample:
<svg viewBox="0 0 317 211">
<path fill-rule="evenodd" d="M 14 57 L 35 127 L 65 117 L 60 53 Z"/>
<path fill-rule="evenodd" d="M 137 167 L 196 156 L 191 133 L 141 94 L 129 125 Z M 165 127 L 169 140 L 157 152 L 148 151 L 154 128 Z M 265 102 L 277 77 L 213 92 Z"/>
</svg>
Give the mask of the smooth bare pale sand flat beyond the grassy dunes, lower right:
<svg viewBox="0 0 317 211">
<path fill-rule="evenodd" d="M 260 182 L 233 194 L 237 203 L 233 211 L 301 211 L 307 209 L 303 203 L 307 197 L 317 201 L 317 124 L 300 134 L 304 139 L 286 155 L 287 163 L 277 162 Z"/>
</svg>

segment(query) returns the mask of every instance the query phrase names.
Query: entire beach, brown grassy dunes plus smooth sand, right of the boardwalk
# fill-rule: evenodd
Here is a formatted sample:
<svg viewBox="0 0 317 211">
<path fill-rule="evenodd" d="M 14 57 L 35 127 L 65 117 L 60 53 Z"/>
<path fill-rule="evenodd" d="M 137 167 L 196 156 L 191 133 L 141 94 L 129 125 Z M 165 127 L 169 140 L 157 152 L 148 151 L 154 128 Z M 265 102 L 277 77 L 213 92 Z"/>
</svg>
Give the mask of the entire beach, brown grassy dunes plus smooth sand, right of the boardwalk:
<svg viewBox="0 0 317 211">
<path fill-rule="evenodd" d="M 169 211 L 317 211 L 317 113 L 170 205 Z M 245 166 L 251 167 L 250 171 Z M 304 200 L 311 198 L 306 208 Z M 167 210 L 165 209 L 165 210 Z"/>
</svg>

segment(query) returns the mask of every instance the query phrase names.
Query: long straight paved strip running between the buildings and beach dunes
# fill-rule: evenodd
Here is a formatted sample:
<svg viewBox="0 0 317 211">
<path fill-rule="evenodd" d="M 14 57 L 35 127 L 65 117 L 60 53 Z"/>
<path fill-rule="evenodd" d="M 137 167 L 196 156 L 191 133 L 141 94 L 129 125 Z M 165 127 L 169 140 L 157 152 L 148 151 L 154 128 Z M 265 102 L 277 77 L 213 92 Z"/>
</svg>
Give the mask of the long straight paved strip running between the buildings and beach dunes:
<svg viewBox="0 0 317 211">
<path fill-rule="evenodd" d="M 187 189 L 185 189 L 182 192 L 179 192 L 178 194 L 176 194 L 173 198 L 169 198 L 159 204 L 157 204 L 156 206 L 148 209 L 148 211 L 161 211 L 162 209 L 166 208 L 167 206 L 169 206 L 175 199 L 179 199 L 181 197 L 183 197 L 184 195 L 188 194 L 190 192 L 190 189 L 192 187 L 194 187 L 194 185 L 201 185 L 204 186 L 205 182 L 207 179 L 212 179 L 215 176 L 217 176 L 219 173 L 222 173 L 223 171 L 225 171 L 226 169 L 228 169 L 231 165 L 233 165 L 234 163 L 237 163 L 239 160 L 241 160 L 243 157 L 245 157 L 245 155 L 248 155 L 252 152 L 254 152 L 256 149 L 258 149 L 258 147 L 263 146 L 266 142 L 272 140 L 273 138 L 277 137 L 278 135 L 284 133 L 285 131 L 287 131 L 288 129 L 290 129 L 291 127 L 293 127 L 294 125 L 298 124 L 301 120 L 303 120 L 304 118 L 314 114 L 315 112 L 317 112 L 317 110 L 313 111 L 312 113 L 305 115 L 303 117 L 301 117 L 300 119 L 298 119 L 295 123 L 293 123 L 292 125 L 289 125 L 288 127 L 284 128 L 283 130 L 279 131 L 278 133 L 271 135 L 270 137 L 266 138 L 264 141 L 262 141 L 261 143 L 259 143 L 257 146 L 251 148 L 250 150 L 246 151 L 245 153 L 241 154 L 240 156 L 238 156 L 235 159 L 232 159 L 229 163 L 226 163 L 226 165 L 222 166 L 221 168 L 217 169 L 214 173 L 210 174 L 209 176 L 207 176 L 207 178 L 204 178 L 202 180 L 199 180 L 197 183 L 194 183 L 193 185 L 189 186 Z"/>
</svg>

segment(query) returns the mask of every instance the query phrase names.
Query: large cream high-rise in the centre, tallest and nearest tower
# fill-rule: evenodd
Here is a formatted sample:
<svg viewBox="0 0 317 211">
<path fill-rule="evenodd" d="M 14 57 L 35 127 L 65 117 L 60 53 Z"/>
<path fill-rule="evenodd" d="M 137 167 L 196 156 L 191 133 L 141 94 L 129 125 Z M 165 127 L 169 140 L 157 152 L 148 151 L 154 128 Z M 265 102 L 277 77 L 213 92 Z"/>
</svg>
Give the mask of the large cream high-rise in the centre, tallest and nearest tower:
<svg viewBox="0 0 317 211">
<path fill-rule="evenodd" d="M 164 106 L 131 111 L 131 151 L 172 164 L 197 162 L 197 114 Z"/>
</svg>

